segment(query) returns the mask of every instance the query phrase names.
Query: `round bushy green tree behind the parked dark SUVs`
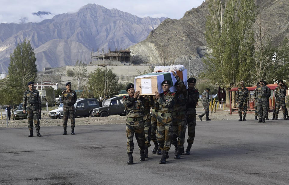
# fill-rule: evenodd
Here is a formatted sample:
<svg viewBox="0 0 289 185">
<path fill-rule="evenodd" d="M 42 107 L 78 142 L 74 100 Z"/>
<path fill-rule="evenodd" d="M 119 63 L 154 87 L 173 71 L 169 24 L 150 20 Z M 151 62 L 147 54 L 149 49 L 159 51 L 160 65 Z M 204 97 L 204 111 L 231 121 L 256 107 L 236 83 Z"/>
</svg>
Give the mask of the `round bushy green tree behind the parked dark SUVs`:
<svg viewBox="0 0 289 185">
<path fill-rule="evenodd" d="M 114 96 L 121 88 L 117 75 L 107 68 L 97 68 L 89 73 L 87 86 L 94 97 Z"/>
</svg>

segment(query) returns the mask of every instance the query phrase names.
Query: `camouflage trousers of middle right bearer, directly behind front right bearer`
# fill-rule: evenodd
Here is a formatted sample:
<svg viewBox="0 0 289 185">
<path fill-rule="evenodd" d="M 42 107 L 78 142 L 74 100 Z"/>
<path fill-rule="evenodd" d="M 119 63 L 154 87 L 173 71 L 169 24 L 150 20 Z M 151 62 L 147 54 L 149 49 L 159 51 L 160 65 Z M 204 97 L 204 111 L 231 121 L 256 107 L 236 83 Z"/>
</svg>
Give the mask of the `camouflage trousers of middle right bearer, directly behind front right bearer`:
<svg viewBox="0 0 289 185">
<path fill-rule="evenodd" d="M 187 130 L 187 117 L 185 114 L 183 114 L 173 116 L 172 119 L 172 145 L 177 148 L 184 148 L 185 134 Z"/>
</svg>

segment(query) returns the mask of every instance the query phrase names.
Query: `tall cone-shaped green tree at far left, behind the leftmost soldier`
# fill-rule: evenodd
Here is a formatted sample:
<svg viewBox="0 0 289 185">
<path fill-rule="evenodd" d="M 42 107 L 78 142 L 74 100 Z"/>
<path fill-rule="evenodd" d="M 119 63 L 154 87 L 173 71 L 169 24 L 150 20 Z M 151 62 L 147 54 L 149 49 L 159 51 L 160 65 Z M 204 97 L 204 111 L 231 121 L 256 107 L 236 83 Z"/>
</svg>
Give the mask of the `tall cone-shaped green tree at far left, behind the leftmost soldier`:
<svg viewBox="0 0 289 185">
<path fill-rule="evenodd" d="M 36 58 L 30 41 L 24 39 L 18 43 L 10 55 L 8 67 L 7 88 L 5 97 L 7 103 L 18 104 L 23 101 L 23 92 L 28 89 L 27 82 L 34 81 L 37 76 Z"/>
</svg>

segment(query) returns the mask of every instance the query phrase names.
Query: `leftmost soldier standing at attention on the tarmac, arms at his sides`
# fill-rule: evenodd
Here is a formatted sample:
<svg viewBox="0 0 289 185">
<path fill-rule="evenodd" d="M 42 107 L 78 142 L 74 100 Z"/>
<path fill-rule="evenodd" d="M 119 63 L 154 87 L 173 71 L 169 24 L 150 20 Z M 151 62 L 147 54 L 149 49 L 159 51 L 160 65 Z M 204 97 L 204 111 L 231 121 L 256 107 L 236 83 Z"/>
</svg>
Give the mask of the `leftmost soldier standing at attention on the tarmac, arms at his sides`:
<svg viewBox="0 0 289 185">
<path fill-rule="evenodd" d="M 34 89 L 34 82 L 27 83 L 29 90 L 24 92 L 23 95 L 23 113 L 27 110 L 27 121 L 30 134 L 28 137 L 33 137 L 33 121 L 36 128 L 36 136 L 41 137 L 39 133 L 40 121 L 39 113 L 41 112 L 41 100 L 39 92 Z"/>
</svg>

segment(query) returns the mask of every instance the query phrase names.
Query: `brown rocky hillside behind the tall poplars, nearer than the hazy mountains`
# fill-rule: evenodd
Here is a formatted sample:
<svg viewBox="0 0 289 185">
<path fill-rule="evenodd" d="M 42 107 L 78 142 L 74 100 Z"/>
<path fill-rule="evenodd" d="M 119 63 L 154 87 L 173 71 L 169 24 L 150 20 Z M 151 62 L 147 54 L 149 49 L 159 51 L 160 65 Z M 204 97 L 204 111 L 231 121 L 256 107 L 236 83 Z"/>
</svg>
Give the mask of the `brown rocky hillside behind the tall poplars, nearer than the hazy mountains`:
<svg viewBox="0 0 289 185">
<path fill-rule="evenodd" d="M 255 0 L 255 3 L 260 9 L 263 28 L 269 30 L 273 43 L 289 38 L 289 1 Z M 131 54 L 142 58 L 143 62 L 160 65 L 165 48 L 169 51 L 167 54 L 175 55 L 177 64 L 188 69 L 191 61 L 191 75 L 198 75 L 204 68 L 201 58 L 207 50 L 204 33 L 208 4 L 208 0 L 204 1 L 179 20 L 166 19 L 145 40 L 130 46 Z"/>
</svg>

